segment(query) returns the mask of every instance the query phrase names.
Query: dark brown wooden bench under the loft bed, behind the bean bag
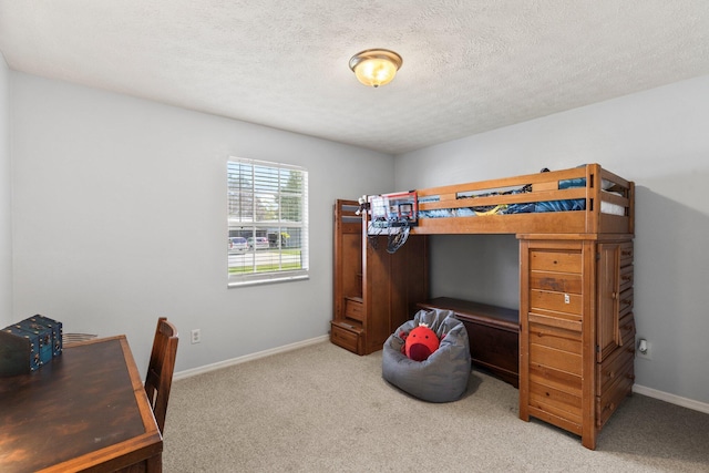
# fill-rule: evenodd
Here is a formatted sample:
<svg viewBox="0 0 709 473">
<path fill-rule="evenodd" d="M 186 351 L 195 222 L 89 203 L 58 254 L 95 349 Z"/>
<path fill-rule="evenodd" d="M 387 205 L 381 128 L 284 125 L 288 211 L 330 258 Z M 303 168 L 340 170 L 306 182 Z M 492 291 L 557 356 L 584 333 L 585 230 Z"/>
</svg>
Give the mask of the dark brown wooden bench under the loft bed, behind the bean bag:
<svg viewBox="0 0 709 473">
<path fill-rule="evenodd" d="M 420 309 L 452 310 L 463 322 L 473 364 L 520 387 L 520 312 L 450 297 L 418 302 Z"/>
</svg>

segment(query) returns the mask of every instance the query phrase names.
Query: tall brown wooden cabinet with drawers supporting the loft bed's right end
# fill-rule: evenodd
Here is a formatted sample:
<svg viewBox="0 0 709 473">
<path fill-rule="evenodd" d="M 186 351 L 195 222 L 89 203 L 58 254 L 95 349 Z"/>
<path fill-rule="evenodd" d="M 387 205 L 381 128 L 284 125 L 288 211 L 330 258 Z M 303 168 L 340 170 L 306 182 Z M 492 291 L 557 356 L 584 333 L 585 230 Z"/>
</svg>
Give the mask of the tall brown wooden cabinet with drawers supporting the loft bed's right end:
<svg viewBox="0 0 709 473">
<path fill-rule="evenodd" d="M 520 418 L 596 436 L 633 388 L 633 241 L 522 235 Z"/>
</svg>

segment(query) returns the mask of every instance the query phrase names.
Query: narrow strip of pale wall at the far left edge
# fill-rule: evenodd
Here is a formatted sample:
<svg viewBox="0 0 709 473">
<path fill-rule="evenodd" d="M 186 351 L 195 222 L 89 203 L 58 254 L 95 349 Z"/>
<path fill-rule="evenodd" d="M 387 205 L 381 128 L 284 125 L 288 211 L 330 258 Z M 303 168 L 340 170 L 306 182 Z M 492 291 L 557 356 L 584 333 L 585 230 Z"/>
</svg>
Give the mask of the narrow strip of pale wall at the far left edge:
<svg viewBox="0 0 709 473">
<path fill-rule="evenodd" d="M 0 328 L 12 320 L 10 70 L 0 53 Z"/>
</svg>

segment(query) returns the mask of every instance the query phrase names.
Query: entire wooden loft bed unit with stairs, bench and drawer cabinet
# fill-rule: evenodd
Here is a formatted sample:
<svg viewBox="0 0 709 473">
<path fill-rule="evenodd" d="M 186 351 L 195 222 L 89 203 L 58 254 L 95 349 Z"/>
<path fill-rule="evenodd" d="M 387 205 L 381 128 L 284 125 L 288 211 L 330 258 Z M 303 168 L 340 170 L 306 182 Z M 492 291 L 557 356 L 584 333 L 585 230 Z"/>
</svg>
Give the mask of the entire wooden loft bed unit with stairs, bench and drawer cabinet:
<svg viewBox="0 0 709 473">
<path fill-rule="evenodd" d="M 452 310 L 467 329 L 473 364 L 518 387 L 522 420 L 541 419 L 595 449 L 634 382 L 634 183 L 586 164 L 389 196 L 401 195 L 389 207 L 360 200 L 359 237 L 341 217 L 357 203 L 336 203 L 332 342 L 367 354 L 417 308 Z M 427 241 L 444 234 L 516 235 L 518 310 L 444 295 L 425 300 Z M 343 257 L 348 248 L 359 256 Z M 349 268 L 353 278 L 343 276 Z M 362 342 L 368 348 L 358 350 Z"/>
</svg>

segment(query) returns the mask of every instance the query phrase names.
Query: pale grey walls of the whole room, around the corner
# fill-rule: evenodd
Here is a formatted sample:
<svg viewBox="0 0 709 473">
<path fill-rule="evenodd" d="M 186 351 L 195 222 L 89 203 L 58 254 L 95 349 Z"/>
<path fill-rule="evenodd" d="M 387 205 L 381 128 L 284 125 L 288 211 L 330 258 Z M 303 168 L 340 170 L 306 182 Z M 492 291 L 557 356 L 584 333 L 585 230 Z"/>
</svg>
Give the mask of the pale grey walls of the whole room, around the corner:
<svg viewBox="0 0 709 473">
<path fill-rule="evenodd" d="M 394 166 L 387 155 L 2 62 L 0 323 L 39 312 L 68 331 L 126 333 L 143 369 L 166 315 L 182 331 L 178 371 L 306 340 L 327 333 L 331 317 L 335 198 L 597 162 L 638 191 L 635 312 L 653 360 L 636 360 L 636 383 L 706 403 L 708 102 L 705 76 L 408 153 Z M 226 289 L 229 154 L 310 169 L 310 280 Z M 362 175 L 364 165 L 372 172 Z M 433 239 L 433 296 L 517 307 L 514 237 Z M 188 343 L 192 328 L 201 345 Z"/>
</svg>

